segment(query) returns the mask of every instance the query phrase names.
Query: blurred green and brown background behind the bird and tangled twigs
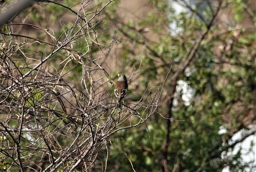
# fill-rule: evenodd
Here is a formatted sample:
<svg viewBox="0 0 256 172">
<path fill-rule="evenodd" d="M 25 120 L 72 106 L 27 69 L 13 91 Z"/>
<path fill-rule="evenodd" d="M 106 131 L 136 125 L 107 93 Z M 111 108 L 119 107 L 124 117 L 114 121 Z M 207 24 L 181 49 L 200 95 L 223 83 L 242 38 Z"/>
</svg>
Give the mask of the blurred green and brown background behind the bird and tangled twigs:
<svg viewBox="0 0 256 172">
<path fill-rule="evenodd" d="M 3 1 L 1 12 L 12 3 Z M 76 28 L 80 17 L 84 21 Z M 75 93 L 82 92 L 82 56 L 91 62 L 88 68 L 95 69 L 90 75 L 97 81 L 92 88 L 100 88 L 95 89 L 100 95 L 95 101 L 112 98 L 111 80 L 117 80 L 117 73 L 128 77 L 127 106 L 148 95 L 136 109 L 139 114 L 150 110 L 147 102 L 159 95 L 144 123 L 129 127 L 141 120 L 131 115 L 119 125 L 127 128 L 107 137 L 88 171 L 255 172 L 255 27 L 256 0 L 42 0 L 1 28 L 1 84 L 10 86 L 3 81 L 4 54 L 15 59 L 12 65 L 33 68 L 69 37 L 66 47 L 41 66 L 49 78 L 59 76 Z M 82 33 L 81 28 L 83 34 L 72 36 Z M 90 77 L 85 81 L 89 88 L 93 85 Z M 71 108 L 79 104 L 77 99 L 64 97 L 63 104 L 70 104 L 66 114 L 77 115 L 78 109 Z M 0 100 L 2 105 L 10 103 Z M 6 107 L 1 106 L 3 124 L 13 113 Z M 62 109 L 60 104 L 56 108 Z M 15 171 L 0 150 L 1 169 Z M 48 162 L 38 166 L 43 171 Z"/>
</svg>

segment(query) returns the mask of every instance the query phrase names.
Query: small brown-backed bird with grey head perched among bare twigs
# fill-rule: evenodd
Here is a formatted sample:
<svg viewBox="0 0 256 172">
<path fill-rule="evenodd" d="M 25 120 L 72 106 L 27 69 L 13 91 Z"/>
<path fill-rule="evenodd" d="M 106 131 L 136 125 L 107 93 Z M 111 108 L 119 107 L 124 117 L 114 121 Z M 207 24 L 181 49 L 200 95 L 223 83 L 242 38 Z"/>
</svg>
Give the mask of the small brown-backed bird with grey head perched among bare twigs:
<svg viewBox="0 0 256 172">
<path fill-rule="evenodd" d="M 118 74 L 118 80 L 114 89 L 114 93 L 117 97 L 117 108 L 121 106 L 121 102 L 125 97 L 128 89 L 127 78 L 123 73 Z"/>
</svg>

